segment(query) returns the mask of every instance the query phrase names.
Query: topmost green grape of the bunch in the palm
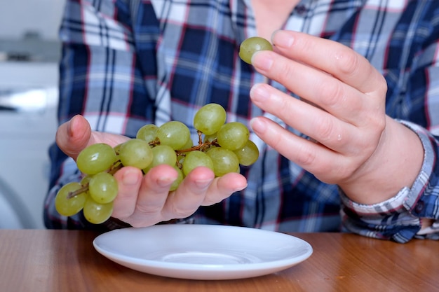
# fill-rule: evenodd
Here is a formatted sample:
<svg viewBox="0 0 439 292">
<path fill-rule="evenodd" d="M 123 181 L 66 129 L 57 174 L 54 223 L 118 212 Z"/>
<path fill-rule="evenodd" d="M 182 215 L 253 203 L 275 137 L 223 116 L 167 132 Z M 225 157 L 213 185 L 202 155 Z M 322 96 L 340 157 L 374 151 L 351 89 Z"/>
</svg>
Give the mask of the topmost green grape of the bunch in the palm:
<svg viewBox="0 0 439 292">
<path fill-rule="evenodd" d="M 194 127 L 205 135 L 215 134 L 226 122 L 226 110 L 219 104 L 206 104 L 194 116 Z"/>
</svg>

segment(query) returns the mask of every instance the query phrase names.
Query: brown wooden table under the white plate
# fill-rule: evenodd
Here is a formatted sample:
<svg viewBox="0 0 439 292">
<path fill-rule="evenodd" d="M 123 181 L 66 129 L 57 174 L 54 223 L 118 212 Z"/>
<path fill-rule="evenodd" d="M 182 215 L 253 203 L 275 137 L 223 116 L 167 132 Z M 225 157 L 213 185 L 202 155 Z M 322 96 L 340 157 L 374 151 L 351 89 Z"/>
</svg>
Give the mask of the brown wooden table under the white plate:
<svg viewBox="0 0 439 292">
<path fill-rule="evenodd" d="M 295 233 L 313 255 L 288 270 L 222 281 L 170 279 L 113 263 L 95 232 L 0 230 L 0 291 L 439 291 L 439 242 L 407 244 L 339 233 Z"/>
</svg>

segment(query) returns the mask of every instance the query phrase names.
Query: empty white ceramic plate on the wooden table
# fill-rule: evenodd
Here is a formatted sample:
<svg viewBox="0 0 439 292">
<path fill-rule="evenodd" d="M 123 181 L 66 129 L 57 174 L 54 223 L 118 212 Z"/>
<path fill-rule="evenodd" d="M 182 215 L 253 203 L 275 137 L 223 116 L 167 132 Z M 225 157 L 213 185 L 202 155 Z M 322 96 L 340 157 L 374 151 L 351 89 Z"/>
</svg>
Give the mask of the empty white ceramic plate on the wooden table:
<svg viewBox="0 0 439 292">
<path fill-rule="evenodd" d="M 181 279 L 239 279 L 285 270 L 313 253 L 280 232 L 224 225 L 154 225 L 99 235 L 95 249 L 133 270 Z"/>
</svg>

